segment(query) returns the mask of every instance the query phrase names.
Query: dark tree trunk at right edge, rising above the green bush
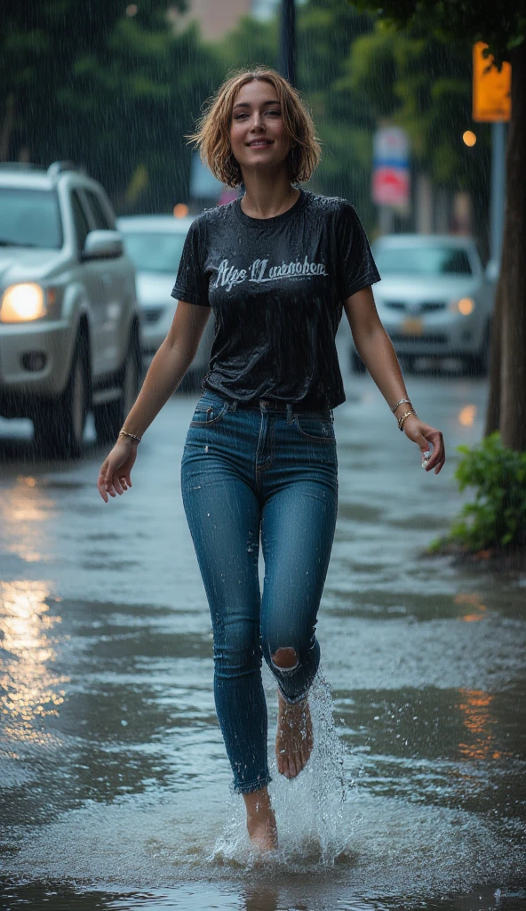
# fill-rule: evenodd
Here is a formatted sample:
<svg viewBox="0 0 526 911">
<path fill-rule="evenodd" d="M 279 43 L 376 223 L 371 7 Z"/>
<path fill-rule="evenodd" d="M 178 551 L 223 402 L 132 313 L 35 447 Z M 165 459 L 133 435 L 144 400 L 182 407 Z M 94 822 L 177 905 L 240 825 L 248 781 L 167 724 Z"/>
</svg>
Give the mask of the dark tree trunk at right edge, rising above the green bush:
<svg viewBox="0 0 526 911">
<path fill-rule="evenodd" d="M 526 41 L 511 51 L 501 278 L 501 437 L 526 450 Z"/>
</svg>

